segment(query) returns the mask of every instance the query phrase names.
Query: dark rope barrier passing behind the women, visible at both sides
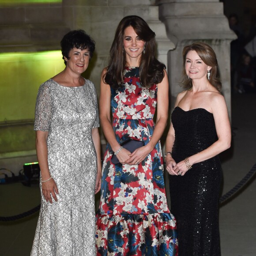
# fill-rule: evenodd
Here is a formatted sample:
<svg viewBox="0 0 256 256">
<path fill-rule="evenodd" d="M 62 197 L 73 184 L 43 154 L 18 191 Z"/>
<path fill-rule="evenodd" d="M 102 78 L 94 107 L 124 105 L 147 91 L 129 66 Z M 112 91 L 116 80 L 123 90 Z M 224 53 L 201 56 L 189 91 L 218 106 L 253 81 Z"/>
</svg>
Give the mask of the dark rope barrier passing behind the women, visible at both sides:
<svg viewBox="0 0 256 256">
<path fill-rule="evenodd" d="M 219 199 L 219 204 L 222 206 L 224 202 L 229 200 L 239 190 L 241 190 L 241 188 L 244 187 L 244 185 L 247 184 L 248 181 L 253 177 L 253 175 L 255 174 L 255 171 L 256 171 L 256 163 L 254 164 L 254 166 L 252 166 L 252 169 L 245 175 L 245 177 L 241 181 L 239 181 L 232 189 L 230 189 L 229 192 L 227 192 L 225 195 L 223 195 Z M 10 217 L 0 217 L 0 222 L 15 221 L 15 220 L 18 220 L 21 218 L 28 217 L 29 215 L 33 215 L 34 213 L 39 211 L 40 207 L 41 207 L 41 204 L 39 204 L 38 206 L 34 207 L 33 209 L 26 211 L 19 215 L 14 215 L 14 216 L 10 216 Z"/>
</svg>

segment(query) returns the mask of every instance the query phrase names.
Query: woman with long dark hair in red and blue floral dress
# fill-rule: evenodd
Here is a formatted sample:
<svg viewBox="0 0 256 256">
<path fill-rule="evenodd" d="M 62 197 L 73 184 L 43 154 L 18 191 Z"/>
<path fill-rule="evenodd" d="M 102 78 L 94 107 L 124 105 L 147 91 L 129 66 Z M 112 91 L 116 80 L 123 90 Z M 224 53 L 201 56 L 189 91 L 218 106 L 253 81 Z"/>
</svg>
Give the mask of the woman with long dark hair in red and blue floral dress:
<svg viewBox="0 0 256 256">
<path fill-rule="evenodd" d="M 165 65 L 154 56 L 154 37 L 143 19 L 124 17 L 102 72 L 100 120 L 108 144 L 97 255 L 177 255 L 176 220 L 167 207 L 159 142 L 168 117 L 169 85 Z M 128 151 L 120 146 L 128 139 L 144 146 Z M 113 164 L 113 155 L 120 163 Z"/>
</svg>

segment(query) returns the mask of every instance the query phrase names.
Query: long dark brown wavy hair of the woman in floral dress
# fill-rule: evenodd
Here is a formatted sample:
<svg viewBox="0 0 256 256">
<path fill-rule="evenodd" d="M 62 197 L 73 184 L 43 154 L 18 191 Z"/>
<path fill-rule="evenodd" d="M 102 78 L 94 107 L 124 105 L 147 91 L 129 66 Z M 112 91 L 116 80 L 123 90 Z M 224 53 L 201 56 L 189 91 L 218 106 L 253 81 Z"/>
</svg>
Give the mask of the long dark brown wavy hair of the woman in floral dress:
<svg viewBox="0 0 256 256">
<path fill-rule="evenodd" d="M 136 15 L 124 17 L 117 26 L 114 41 L 110 49 L 109 64 L 103 81 L 117 89 L 123 86 L 123 71 L 126 66 L 125 51 L 123 50 L 124 30 L 132 26 L 136 34 L 145 41 L 145 53 L 142 53 L 139 64 L 139 78 L 143 87 L 151 87 L 162 82 L 165 64 L 155 57 L 155 33 L 147 23 Z"/>
</svg>

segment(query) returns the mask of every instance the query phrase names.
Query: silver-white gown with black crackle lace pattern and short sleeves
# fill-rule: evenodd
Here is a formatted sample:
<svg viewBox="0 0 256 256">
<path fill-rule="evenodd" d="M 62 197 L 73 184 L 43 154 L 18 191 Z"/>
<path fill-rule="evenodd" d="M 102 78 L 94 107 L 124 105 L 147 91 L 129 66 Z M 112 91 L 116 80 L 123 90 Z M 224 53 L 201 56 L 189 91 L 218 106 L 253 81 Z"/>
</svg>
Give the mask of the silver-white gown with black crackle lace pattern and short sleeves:
<svg viewBox="0 0 256 256">
<path fill-rule="evenodd" d="M 95 87 L 64 87 L 49 79 L 38 91 L 34 130 L 48 131 L 48 163 L 58 201 L 41 210 L 31 256 L 95 256 L 97 161 L 92 128 L 99 127 Z M 41 187 L 41 183 L 40 183 Z"/>
</svg>

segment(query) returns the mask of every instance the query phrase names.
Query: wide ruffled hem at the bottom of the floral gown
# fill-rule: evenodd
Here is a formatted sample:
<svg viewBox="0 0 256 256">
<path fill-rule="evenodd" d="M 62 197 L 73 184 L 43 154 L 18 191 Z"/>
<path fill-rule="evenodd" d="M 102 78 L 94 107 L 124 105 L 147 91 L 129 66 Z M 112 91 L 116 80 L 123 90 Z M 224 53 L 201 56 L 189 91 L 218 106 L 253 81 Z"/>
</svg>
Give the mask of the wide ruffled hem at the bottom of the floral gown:
<svg viewBox="0 0 256 256">
<path fill-rule="evenodd" d="M 96 215 L 98 256 L 177 256 L 176 220 L 170 213 Z"/>
</svg>

